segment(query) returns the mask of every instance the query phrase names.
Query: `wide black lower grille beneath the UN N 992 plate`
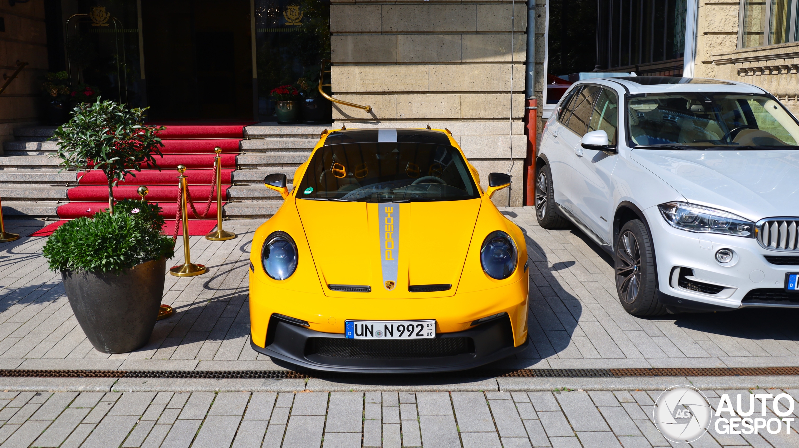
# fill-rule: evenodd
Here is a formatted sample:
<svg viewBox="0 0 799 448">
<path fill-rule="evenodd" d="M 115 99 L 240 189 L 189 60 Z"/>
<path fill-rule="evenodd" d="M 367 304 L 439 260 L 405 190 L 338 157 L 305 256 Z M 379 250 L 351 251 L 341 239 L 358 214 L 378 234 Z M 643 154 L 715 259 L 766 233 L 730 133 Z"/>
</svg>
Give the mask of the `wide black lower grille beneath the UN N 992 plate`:
<svg viewBox="0 0 799 448">
<path fill-rule="evenodd" d="M 383 341 L 308 338 L 305 354 L 335 358 L 414 359 L 455 356 L 474 351 L 475 344 L 471 338 L 389 339 Z"/>
</svg>

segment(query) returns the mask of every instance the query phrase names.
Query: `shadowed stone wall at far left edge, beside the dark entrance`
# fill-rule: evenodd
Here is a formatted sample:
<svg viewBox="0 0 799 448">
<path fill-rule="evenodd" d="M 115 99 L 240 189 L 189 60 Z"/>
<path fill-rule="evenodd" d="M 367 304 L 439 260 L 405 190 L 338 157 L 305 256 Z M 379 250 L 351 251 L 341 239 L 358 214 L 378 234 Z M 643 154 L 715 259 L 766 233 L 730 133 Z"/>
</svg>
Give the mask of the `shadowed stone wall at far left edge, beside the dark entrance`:
<svg viewBox="0 0 799 448">
<path fill-rule="evenodd" d="M 28 62 L 17 79 L 0 94 L 0 155 L 2 142 L 14 139 L 14 128 L 38 122 L 42 75 L 47 70 L 47 37 L 42 2 L 0 3 L 6 31 L 0 32 L 0 72 L 10 76 L 17 61 Z M 0 85 L 6 80 L 0 78 Z"/>
</svg>

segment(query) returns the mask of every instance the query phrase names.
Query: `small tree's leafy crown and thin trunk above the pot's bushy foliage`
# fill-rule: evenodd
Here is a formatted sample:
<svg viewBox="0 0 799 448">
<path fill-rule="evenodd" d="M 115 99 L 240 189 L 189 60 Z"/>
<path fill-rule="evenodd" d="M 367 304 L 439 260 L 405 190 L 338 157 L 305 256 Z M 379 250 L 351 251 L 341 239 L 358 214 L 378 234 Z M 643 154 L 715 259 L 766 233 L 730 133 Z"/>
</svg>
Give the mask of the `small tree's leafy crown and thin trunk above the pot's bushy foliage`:
<svg viewBox="0 0 799 448">
<path fill-rule="evenodd" d="M 154 155 L 164 146 L 157 131 L 164 126 L 144 124 L 145 109 L 128 109 L 115 101 L 81 103 L 73 117 L 53 133 L 58 139 L 55 157 L 63 168 L 90 166 L 101 169 L 108 180 L 108 208 L 113 213 L 113 184 L 125 179 L 141 165 L 158 168 Z M 161 170 L 161 168 L 158 168 Z"/>
</svg>

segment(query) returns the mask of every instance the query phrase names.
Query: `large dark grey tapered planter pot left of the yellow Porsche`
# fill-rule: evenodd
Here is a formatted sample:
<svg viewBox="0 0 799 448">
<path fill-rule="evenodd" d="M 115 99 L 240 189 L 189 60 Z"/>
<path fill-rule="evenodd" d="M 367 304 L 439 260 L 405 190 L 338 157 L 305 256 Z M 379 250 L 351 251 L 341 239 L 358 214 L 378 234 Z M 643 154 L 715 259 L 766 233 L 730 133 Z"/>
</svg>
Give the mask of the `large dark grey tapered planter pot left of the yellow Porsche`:
<svg viewBox="0 0 799 448">
<path fill-rule="evenodd" d="M 97 351 L 125 353 L 144 347 L 164 295 L 166 260 L 152 260 L 117 275 L 62 272 L 66 296 Z"/>
</svg>

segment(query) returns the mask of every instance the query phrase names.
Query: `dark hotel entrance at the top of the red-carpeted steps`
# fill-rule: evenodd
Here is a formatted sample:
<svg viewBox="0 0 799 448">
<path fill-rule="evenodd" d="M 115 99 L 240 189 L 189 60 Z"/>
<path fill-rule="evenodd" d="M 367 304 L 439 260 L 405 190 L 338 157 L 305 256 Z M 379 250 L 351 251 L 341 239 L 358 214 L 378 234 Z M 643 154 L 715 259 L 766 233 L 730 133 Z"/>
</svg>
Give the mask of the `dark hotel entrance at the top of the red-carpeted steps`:
<svg viewBox="0 0 799 448">
<path fill-rule="evenodd" d="M 305 97 L 316 97 L 320 61 L 330 57 L 324 0 L 64 0 L 61 7 L 72 83 L 149 106 L 151 121 L 276 121 L 272 89 L 304 80 Z"/>
</svg>

